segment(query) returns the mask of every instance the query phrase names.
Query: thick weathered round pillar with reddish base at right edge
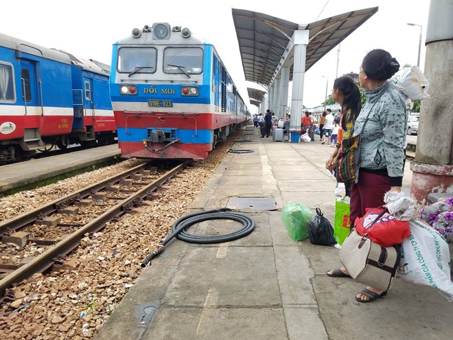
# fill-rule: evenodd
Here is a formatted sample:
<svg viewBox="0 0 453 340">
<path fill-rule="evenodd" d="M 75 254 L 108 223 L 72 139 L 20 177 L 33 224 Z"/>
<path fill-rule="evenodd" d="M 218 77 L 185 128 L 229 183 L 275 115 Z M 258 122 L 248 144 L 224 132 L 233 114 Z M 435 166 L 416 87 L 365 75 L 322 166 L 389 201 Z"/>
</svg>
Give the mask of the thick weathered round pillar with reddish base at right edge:
<svg viewBox="0 0 453 340">
<path fill-rule="evenodd" d="M 421 100 L 411 194 L 426 205 L 430 193 L 453 194 L 453 4 L 431 0 L 424 74 L 430 98 Z"/>
</svg>

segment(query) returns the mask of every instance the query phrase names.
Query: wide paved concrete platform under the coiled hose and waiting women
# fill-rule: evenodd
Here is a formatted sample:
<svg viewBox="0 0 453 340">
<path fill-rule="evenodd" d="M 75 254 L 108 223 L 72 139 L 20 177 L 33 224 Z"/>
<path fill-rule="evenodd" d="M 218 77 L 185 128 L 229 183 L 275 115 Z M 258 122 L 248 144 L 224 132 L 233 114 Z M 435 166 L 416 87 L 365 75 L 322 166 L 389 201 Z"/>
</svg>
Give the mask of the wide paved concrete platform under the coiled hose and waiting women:
<svg viewBox="0 0 453 340">
<path fill-rule="evenodd" d="M 453 303 L 434 288 L 397 278 L 384 299 L 361 304 L 354 297 L 362 284 L 325 275 L 340 266 L 338 249 L 288 236 L 281 208 L 291 202 L 321 207 L 333 224 L 336 181 L 324 168 L 333 148 L 247 130 L 252 141 L 234 149 L 254 152 L 229 153 L 187 214 L 226 207 L 233 197 L 273 199 L 275 207 L 240 210 L 256 223 L 245 238 L 170 242 L 96 339 L 452 339 Z M 223 234 L 233 226 L 213 221 L 197 229 L 208 227 Z"/>
</svg>

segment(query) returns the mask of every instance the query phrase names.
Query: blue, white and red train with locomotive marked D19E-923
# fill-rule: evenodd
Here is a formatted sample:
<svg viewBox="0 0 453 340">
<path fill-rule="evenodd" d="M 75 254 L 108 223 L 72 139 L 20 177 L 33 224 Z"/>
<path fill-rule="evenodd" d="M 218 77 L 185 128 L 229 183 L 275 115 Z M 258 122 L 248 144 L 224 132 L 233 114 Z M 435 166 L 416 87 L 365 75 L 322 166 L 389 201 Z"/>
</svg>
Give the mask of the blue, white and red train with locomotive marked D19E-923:
<svg viewBox="0 0 453 340">
<path fill-rule="evenodd" d="M 113 44 L 110 94 L 122 158 L 206 159 L 251 118 L 213 45 L 169 23 Z"/>
</svg>

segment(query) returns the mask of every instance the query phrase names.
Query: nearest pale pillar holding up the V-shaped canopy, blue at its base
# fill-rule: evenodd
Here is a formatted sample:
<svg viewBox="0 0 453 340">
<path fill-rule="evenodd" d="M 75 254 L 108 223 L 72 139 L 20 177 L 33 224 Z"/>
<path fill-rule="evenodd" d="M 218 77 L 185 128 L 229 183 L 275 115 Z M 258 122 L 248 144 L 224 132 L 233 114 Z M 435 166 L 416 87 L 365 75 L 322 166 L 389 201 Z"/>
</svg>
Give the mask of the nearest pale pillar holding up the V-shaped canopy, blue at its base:
<svg viewBox="0 0 453 340">
<path fill-rule="evenodd" d="M 303 106 L 303 80 L 305 78 L 305 58 L 307 54 L 309 30 L 294 31 L 294 67 L 292 70 L 291 95 L 291 142 L 299 143 Z"/>
</svg>

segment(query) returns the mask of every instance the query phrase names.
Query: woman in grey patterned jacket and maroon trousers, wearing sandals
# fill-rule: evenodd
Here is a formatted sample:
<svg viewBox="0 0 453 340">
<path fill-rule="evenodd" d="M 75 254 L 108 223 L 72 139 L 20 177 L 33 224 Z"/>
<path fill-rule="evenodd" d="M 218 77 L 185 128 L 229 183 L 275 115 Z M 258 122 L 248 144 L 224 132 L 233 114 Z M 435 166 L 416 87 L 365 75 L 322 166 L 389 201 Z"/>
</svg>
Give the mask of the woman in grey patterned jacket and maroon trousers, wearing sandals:
<svg viewBox="0 0 453 340">
<path fill-rule="evenodd" d="M 398 70 L 399 63 L 384 49 L 373 49 L 360 66 L 359 81 L 367 102 L 354 123 L 353 135 L 360 133 L 368 114 L 369 120 L 360 137 L 358 182 L 352 183 L 351 188 L 349 218 L 352 223 L 364 216 L 367 207 L 384 205 L 386 192 L 401 191 L 407 131 L 406 104 L 387 82 Z M 332 168 L 332 161 L 327 161 L 326 168 Z M 341 267 L 328 271 L 327 275 L 347 277 L 349 273 Z M 373 302 L 386 294 L 386 291 L 367 286 L 356 295 L 356 300 Z"/>
</svg>

